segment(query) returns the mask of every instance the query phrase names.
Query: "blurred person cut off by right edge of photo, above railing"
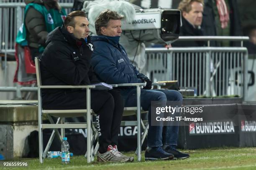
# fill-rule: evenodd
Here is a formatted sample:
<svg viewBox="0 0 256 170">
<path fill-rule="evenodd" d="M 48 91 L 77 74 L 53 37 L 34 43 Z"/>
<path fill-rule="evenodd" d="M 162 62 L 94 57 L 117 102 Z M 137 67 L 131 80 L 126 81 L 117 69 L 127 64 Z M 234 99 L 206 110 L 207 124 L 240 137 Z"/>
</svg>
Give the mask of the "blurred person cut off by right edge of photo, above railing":
<svg viewBox="0 0 256 170">
<path fill-rule="evenodd" d="M 250 38 L 245 41 L 244 46 L 247 47 L 249 54 L 256 54 L 256 25 L 248 25 L 243 29 L 243 34 Z"/>
</svg>

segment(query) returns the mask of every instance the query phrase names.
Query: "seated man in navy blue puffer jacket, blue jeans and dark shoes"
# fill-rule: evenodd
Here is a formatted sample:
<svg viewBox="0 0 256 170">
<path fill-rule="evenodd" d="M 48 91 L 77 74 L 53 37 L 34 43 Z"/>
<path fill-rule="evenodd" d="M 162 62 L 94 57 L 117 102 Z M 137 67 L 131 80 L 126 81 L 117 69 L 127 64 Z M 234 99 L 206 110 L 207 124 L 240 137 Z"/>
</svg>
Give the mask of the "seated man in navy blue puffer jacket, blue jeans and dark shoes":
<svg viewBox="0 0 256 170">
<path fill-rule="evenodd" d="M 148 110 L 148 148 L 145 160 L 170 160 L 188 158 L 189 155 L 176 150 L 178 126 L 151 126 L 151 101 L 179 101 L 182 95 L 175 90 L 149 90 L 151 80 L 136 70 L 129 61 L 125 49 L 119 44 L 121 19 L 115 11 L 105 10 L 95 21 L 98 36 L 92 37 L 95 50 L 92 54 L 92 66 L 98 77 L 110 84 L 141 83 L 146 86 L 141 90 L 141 106 Z M 136 88 L 122 89 L 126 107 L 136 106 Z M 163 134 L 163 135 L 162 135 Z"/>
</svg>

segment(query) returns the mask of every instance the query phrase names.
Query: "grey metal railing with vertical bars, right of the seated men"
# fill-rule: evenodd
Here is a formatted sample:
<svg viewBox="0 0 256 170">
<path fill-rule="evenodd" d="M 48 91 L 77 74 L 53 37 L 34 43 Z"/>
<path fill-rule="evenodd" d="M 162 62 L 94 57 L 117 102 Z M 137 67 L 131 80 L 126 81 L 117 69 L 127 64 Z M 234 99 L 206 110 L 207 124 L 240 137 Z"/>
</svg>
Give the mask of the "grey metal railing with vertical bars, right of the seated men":
<svg viewBox="0 0 256 170">
<path fill-rule="evenodd" d="M 152 81 L 178 80 L 197 95 L 246 98 L 246 47 L 172 47 L 146 49 L 146 74 Z"/>
</svg>

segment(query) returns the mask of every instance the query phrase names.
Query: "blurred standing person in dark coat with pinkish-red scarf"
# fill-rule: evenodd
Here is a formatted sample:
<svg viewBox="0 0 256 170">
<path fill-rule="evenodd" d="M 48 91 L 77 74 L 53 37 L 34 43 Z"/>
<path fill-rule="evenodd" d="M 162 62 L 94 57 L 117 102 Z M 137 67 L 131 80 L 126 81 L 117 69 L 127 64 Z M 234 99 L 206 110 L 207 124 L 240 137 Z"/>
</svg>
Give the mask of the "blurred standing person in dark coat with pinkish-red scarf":
<svg viewBox="0 0 256 170">
<path fill-rule="evenodd" d="M 241 20 L 237 0 L 204 0 L 205 7 L 202 20 L 204 35 L 241 36 Z M 240 42 L 211 42 L 211 46 L 240 46 Z"/>
</svg>

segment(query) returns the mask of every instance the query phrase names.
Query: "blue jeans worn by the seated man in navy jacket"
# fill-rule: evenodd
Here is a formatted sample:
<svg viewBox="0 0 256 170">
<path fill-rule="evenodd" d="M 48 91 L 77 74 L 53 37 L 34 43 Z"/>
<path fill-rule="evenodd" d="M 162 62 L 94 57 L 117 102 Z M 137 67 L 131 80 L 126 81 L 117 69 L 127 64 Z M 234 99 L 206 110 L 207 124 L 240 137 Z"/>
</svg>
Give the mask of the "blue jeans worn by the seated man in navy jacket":
<svg viewBox="0 0 256 170">
<path fill-rule="evenodd" d="M 125 107 L 137 105 L 136 89 L 125 100 Z M 182 95 L 176 90 L 141 90 L 141 107 L 148 111 L 148 146 L 158 147 L 165 144 L 177 146 L 179 126 L 151 126 L 151 101 L 181 101 Z"/>
</svg>

